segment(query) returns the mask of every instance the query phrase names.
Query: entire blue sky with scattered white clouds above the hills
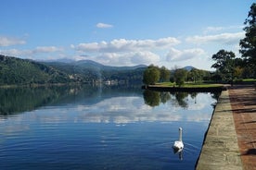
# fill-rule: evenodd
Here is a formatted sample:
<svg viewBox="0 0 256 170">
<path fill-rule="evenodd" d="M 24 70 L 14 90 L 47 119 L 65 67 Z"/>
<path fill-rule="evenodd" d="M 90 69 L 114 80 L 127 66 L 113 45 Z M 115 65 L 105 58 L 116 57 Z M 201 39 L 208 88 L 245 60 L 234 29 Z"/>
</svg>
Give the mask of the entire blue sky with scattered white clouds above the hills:
<svg viewBox="0 0 256 170">
<path fill-rule="evenodd" d="M 1 0 L 0 54 L 108 66 L 188 65 L 239 56 L 253 0 Z"/>
</svg>

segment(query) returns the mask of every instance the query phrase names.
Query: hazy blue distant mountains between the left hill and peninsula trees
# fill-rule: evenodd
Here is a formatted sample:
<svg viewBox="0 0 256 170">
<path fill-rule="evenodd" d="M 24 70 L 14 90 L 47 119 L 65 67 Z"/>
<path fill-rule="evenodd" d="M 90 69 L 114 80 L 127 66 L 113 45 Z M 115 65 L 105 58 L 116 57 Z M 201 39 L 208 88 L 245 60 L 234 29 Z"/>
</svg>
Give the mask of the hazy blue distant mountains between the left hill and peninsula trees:
<svg viewBox="0 0 256 170">
<path fill-rule="evenodd" d="M 83 82 L 109 81 L 141 83 L 145 65 L 134 67 L 109 67 L 92 60 L 73 62 L 44 62 L 45 65 L 55 67 L 60 71 L 72 75 L 74 79 Z"/>
</svg>

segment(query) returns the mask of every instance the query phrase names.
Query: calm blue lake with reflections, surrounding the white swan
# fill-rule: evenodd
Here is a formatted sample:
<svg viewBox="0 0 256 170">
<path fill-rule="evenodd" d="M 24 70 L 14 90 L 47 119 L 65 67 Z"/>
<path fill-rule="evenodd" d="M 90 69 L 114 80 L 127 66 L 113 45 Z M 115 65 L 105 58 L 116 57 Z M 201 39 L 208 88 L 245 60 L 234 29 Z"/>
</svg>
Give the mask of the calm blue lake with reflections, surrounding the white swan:
<svg viewBox="0 0 256 170">
<path fill-rule="evenodd" d="M 218 94 L 0 89 L 0 169 L 194 169 Z M 178 128 L 182 152 L 173 152 Z"/>
</svg>

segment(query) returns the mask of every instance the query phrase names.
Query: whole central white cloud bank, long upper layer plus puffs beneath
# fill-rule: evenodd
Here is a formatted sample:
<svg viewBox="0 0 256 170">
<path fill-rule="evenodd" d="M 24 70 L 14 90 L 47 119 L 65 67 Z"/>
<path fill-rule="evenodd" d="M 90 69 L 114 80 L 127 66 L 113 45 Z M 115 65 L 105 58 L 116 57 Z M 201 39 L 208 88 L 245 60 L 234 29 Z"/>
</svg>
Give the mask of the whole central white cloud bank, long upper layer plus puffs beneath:
<svg viewBox="0 0 256 170">
<path fill-rule="evenodd" d="M 179 44 L 176 38 L 167 37 L 157 40 L 126 40 L 115 39 L 110 42 L 88 42 L 70 47 L 80 54 L 89 54 L 86 59 L 92 59 L 110 66 L 134 66 L 138 64 L 156 64 L 160 55 L 155 51 L 170 49 Z"/>
</svg>

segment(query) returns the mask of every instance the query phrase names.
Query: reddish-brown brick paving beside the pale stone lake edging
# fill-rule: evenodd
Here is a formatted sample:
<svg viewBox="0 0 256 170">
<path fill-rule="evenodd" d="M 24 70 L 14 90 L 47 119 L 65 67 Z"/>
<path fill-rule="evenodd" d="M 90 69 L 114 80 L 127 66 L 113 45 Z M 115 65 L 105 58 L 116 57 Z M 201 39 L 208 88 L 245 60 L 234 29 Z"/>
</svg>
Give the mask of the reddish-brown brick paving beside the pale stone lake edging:
<svg viewBox="0 0 256 170">
<path fill-rule="evenodd" d="M 256 91 L 254 86 L 229 90 L 243 169 L 256 170 Z"/>
</svg>

